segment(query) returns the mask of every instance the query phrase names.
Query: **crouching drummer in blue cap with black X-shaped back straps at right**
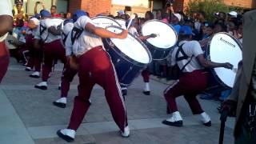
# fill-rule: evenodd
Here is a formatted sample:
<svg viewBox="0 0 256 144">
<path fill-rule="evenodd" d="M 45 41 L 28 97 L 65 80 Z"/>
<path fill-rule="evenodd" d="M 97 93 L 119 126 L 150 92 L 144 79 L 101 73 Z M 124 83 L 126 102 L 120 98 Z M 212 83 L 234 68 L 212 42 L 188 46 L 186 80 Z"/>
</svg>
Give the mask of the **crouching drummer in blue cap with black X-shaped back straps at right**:
<svg viewBox="0 0 256 144">
<path fill-rule="evenodd" d="M 175 99 L 184 95 L 189 103 L 193 114 L 200 114 L 205 126 L 211 126 L 210 116 L 202 110 L 196 96 L 206 89 L 207 73 L 206 68 L 224 67 L 232 69 L 232 65 L 226 63 L 216 63 L 206 60 L 203 56 L 202 48 L 197 41 L 191 41 L 192 29 L 190 26 L 182 26 L 179 32 L 178 46 L 174 48 L 171 55 L 171 66 L 176 63 L 182 74 L 177 82 L 167 87 L 164 96 L 170 109 L 171 117 L 162 123 L 168 126 L 182 126 L 182 116 L 178 112 Z"/>
</svg>

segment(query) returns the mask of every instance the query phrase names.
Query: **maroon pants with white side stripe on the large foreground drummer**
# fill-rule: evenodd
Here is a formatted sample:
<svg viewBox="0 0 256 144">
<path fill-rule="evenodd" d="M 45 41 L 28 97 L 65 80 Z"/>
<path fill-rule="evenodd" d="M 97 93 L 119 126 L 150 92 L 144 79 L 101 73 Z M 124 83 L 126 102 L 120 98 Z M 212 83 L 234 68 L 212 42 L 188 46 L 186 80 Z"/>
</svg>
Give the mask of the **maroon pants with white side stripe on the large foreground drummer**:
<svg viewBox="0 0 256 144">
<path fill-rule="evenodd" d="M 106 54 L 106 51 L 102 50 L 102 46 L 97 46 L 87 51 L 86 54 L 82 54 L 78 58 L 78 63 L 78 96 L 74 98 L 74 109 L 68 128 L 78 130 L 78 126 L 80 126 L 90 106 L 91 90 L 97 83 L 105 90 L 106 101 L 110 106 L 114 122 L 123 131 L 128 126 L 126 108 L 118 78 L 109 55 Z"/>
</svg>

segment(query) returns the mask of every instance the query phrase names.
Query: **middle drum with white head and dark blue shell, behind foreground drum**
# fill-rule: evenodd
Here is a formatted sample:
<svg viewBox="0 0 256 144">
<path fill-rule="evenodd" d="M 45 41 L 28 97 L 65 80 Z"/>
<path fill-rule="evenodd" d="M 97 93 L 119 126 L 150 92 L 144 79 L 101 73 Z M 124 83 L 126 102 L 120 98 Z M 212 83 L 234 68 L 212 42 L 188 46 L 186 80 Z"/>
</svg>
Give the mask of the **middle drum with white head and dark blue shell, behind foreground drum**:
<svg viewBox="0 0 256 144">
<path fill-rule="evenodd" d="M 142 25 L 142 35 L 157 34 L 156 38 L 146 40 L 146 46 L 150 50 L 152 59 L 165 59 L 178 42 L 178 36 L 172 26 L 159 20 L 150 20 Z"/>
</svg>

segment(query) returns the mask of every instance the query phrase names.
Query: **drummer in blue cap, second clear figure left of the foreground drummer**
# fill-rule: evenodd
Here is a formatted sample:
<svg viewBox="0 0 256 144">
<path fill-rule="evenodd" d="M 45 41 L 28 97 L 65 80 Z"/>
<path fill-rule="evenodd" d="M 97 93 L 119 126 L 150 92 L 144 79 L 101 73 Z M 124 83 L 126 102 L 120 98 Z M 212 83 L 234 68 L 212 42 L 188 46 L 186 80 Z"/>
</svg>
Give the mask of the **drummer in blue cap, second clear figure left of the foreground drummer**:
<svg viewBox="0 0 256 144">
<path fill-rule="evenodd" d="M 62 46 L 61 33 L 62 30 L 54 26 L 51 21 L 51 14 L 47 10 L 42 10 L 40 12 L 42 17 L 44 17 L 40 22 L 40 31 L 35 34 L 36 40 L 34 41 L 35 46 L 39 46 L 40 40 L 44 42 L 43 44 L 43 65 L 42 65 L 42 82 L 35 85 L 35 88 L 41 90 L 47 90 L 47 80 L 51 68 L 54 64 L 54 59 L 58 58 L 66 66 L 66 54 L 65 48 Z"/>
</svg>

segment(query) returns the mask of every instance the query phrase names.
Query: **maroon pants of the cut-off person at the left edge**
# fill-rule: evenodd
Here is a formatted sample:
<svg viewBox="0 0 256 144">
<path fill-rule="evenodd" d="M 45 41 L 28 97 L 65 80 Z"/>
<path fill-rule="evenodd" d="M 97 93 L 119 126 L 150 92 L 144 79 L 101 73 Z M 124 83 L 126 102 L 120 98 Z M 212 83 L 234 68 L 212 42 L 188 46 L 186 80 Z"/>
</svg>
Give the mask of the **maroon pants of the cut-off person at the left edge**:
<svg viewBox="0 0 256 144">
<path fill-rule="evenodd" d="M 6 74 L 9 58 L 9 50 L 7 50 L 5 42 L 0 42 L 0 83 L 2 82 L 3 76 Z"/>
</svg>

